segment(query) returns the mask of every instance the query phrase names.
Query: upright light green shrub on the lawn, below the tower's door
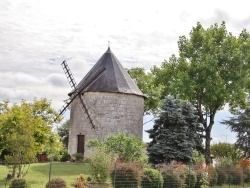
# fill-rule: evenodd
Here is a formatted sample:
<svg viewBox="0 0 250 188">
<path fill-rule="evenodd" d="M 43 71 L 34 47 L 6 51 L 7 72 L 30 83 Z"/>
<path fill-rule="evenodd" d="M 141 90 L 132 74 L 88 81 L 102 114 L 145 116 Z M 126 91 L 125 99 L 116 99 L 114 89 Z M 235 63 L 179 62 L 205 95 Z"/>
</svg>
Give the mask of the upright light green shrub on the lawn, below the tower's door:
<svg viewBox="0 0 250 188">
<path fill-rule="evenodd" d="M 93 179 L 102 183 L 106 182 L 109 177 L 109 167 L 114 162 L 112 155 L 103 148 L 97 148 L 88 158 Z"/>
</svg>

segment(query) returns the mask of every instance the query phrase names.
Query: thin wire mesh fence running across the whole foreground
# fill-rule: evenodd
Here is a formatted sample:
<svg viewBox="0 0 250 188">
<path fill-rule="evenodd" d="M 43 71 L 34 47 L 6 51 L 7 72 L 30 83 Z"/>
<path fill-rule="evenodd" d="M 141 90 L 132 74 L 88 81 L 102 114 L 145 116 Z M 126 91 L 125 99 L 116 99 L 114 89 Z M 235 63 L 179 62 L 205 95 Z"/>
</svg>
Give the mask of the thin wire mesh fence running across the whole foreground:
<svg viewBox="0 0 250 188">
<path fill-rule="evenodd" d="M 12 169 L 8 165 L 0 165 L 0 188 L 25 188 L 25 183 L 30 188 L 250 188 L 250 169 L 236 166 L 175 164 L 137 171 L 124 166 L 121 168 L 117 164 L 112 170 L 109 169 L 105 182 L 95 181 L 91 177 L 87 163 L 46 162 L 34 163 L 27 168 L 29 171 L 24 176 L 26 182 L 15 185 L 12 183 Z M 48 184 L 52 179 L 55 182 Z"/>
</svg>

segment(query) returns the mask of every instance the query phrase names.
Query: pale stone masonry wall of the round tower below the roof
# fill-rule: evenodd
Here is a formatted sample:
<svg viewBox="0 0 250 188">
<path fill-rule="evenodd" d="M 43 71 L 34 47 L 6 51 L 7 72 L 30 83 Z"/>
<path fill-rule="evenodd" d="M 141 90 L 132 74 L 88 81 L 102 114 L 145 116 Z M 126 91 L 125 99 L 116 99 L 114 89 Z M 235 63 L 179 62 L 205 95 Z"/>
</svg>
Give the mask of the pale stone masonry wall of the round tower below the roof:
<svg viewBox="0 0 250 188">
<path fill-rule="evenodd" d="M 144 108 L 142 96 L 124 93 L 85 92 L 82 98 L 96 128 L 91 128 L 80 102 L 73 101 L 70 112 L 69 154 L 72 155 L 77 151 L 77 135 L 85 135 L 85 145 L 88 139 L 97 138 L 103 141 L 108 135 L 121 132 L 142 138 Z M 85 147 L 85 155 L 87 153 Z"/>
</svg>

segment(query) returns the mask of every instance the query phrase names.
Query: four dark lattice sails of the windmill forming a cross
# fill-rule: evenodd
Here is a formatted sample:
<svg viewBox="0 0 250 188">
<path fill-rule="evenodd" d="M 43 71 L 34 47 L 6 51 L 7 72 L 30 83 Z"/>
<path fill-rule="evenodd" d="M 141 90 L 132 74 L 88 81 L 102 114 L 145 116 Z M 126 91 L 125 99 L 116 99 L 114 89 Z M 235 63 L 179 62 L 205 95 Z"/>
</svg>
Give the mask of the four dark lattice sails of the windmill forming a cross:
<svg viewBox="0 0 250 188">
<path fill-rule="evenodd" d="M 81 104 L 83 112 L 86 113 L 87 118 L 89 120 L 89 124 L 91 125 L 92 129 L 95 129 L 95 124 L 93 119 L 91 118 L 88 110 L 88 106 L 85 104 L 82 95 L 84 94 L 84 91 L 91 86 L 98 78 L 100 78 L 106 71 L 106 67 L 102 66 L 100 67 L 94 74 L 92 74 L 88 79 L 86 79 L 80 87 L 76 85 L 75 79 L 69 69 L 69 66 L 66 61 L 62 62 L 62 68 L 64 70 L 64 73 L 66 74 L 66 77 L 68 79 L 69 85 L 73 89 L 71 92 L 70 98 L 65 102 L 65 104 L 61 107 L 59 110 L 59 115 L 63 115 L 64 112 L 67 110 L 69 105 L 72 101 L 78 100 L 78 102 Z"/>
</svg>

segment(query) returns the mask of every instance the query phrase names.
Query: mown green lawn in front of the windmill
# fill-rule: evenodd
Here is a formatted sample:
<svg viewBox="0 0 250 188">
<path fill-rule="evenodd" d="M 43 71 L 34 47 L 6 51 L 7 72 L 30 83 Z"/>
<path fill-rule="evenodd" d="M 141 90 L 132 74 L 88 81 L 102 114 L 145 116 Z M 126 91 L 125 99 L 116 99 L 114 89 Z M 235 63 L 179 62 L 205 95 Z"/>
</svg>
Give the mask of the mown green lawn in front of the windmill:
<svg viewBox="0 0 250 188">
<path fill-rule="evenodd" d="M 28 174 L 24 177 L 31 188 L 44 188 L 49 180 L 50 163 L 35 163 L 31 164 Z M 6 175 L 9 169 L 6 166 L 0 165 L 0 187 L 5 187 Z M 51 178 L 62 177 L 68 187 L 74 182 L 79 174 L 89 176 L 89 166 L 86 163 L 52 163 Z M 9 182 L 7 182 L 7 185 Z M 8 187 L 8 186 L 6 186 Z"/>
</svg>

